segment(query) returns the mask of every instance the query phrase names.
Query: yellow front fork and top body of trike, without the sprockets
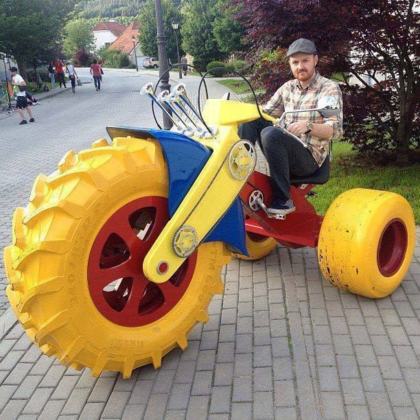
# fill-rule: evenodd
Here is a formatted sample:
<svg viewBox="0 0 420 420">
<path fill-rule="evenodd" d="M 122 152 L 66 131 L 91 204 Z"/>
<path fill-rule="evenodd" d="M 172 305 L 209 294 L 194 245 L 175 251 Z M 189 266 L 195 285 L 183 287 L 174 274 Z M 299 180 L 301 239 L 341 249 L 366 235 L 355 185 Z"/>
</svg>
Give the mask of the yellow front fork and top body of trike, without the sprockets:
<svg viewBox="0 0 420 420">
<path fill-rule="evenodd" d="M 275 121 L 269 115 L 263 115 L 264 118 Z M 240 140 L 237 135 L 238 124 L 252 121 L 259 116 L 255 104 L 207 100 L 203 118 L 207 125 L 218 127 L 218 134 L 213 139 L 193 138 L 211 149 L 212 154 L 183 202 L 145 256 L 143 272 L 150 281 L 167 281 L 185 261 L 185 257 L 180 257 L 174 252 L 174 238 L 182 226 L 194 229 L 198 246 L 239 194 L 248 177 L 242 180 L 235 179 L 229 170 L 228 157 L 235 143 Z M 188 242 L 191 238 L 187 235 L 183 238 L 181 233 L 179 240 Z M 165 265 L 164 272 L 159 270 L 161 264 Z"/>
</svg>

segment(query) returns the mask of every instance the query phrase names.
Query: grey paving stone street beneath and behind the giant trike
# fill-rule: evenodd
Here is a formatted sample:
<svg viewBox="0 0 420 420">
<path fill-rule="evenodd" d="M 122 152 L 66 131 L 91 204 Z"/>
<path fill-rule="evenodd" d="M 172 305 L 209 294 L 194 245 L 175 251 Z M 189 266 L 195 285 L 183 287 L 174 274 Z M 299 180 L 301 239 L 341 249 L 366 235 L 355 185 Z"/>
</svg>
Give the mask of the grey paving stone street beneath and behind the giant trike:
<svg viewBox="0 0 420 420">
<path fill-rule="evenodd" d="M 123 95 L 95 95 L 91 86 L 58 95 L 36 108 L 39 124 L 26 135 L 16 118 L 0 121 L 2 247 L 38 172 L 54 170 L 69 148 L 104 137 L 105 124 L 151 125 L 148 101 L 133 92 L 150 77 L 115 72 L 108 80 L 106 89 Z M 0 270 L 5 310 L 3 264 Z M 311 248 L 233 259 L 222 279 L 224 294 L 211 302 L 209 322 L 191 331 L 189 347 L 129 380 L 66 369 L 15 325 L 0 342 L 0 419 L 419 418 L 419 228 L 408 275 L 385 299 L 332 287 Z"/>
</svg>

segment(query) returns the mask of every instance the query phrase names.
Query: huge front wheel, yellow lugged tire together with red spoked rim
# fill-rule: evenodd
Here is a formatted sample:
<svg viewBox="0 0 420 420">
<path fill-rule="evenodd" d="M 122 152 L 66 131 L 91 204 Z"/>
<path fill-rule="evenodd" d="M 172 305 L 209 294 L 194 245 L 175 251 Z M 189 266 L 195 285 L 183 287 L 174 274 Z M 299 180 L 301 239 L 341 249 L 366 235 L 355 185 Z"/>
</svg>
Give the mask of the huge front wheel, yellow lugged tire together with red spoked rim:
<svg viewBox="0 0 420 420">
<path fill-rule="evenodd" d="M 165 283 L 143 275 L 169 220 L 167 189 L 159 144 L 129 137 L 68 152 L 58 171 L 36 178 L 4 257 L 12 308 L 47 355 L 130 377 L 185 349 L 189 331 L 207 322 L 231 258 L 222 242 L 202 244 Z"/>
</svg>

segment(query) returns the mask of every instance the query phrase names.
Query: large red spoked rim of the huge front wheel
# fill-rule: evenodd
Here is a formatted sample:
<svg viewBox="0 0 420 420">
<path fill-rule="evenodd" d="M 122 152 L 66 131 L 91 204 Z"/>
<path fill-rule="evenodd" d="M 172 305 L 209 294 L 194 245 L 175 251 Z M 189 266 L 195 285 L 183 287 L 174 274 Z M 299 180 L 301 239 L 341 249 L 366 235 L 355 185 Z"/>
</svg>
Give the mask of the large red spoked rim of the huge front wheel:
<svg viewBox="0 0 420 420">
<path fill-rule="evenodd" d="M 89 292 L 97 310 L 113 323 L 153 323 L 185 294 L 197 253 L 165 283 L 153 283 L 143 274 L 144 257 L 168 220 L 167 198 L 138 198 L 117 210 L 97 234 L 89 255 Z"/>
</svg>

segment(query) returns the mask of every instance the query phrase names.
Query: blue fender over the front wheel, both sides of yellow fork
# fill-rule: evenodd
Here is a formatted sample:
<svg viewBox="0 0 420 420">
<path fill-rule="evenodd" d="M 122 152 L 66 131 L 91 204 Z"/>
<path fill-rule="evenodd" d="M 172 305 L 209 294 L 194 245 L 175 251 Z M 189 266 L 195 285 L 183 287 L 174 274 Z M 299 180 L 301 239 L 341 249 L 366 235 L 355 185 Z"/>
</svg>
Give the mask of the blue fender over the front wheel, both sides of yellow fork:
<svg viewBox="0 0 420 420">
<path fill-rule="evenodd" d="M 170 216 L 183 201 L 198 174 L 211 156 L 211 151 L 185 135 L 152 128 L 107 127 L 110 138 L 131 136 L 137 139 L 153 137 L 162 146 L 169 172 L 168 206 Z M 222 241 L 239 253 L 248 255 L 245 242 L 244 213 L 239 198 L 202 242 Z"/>
</svg>

